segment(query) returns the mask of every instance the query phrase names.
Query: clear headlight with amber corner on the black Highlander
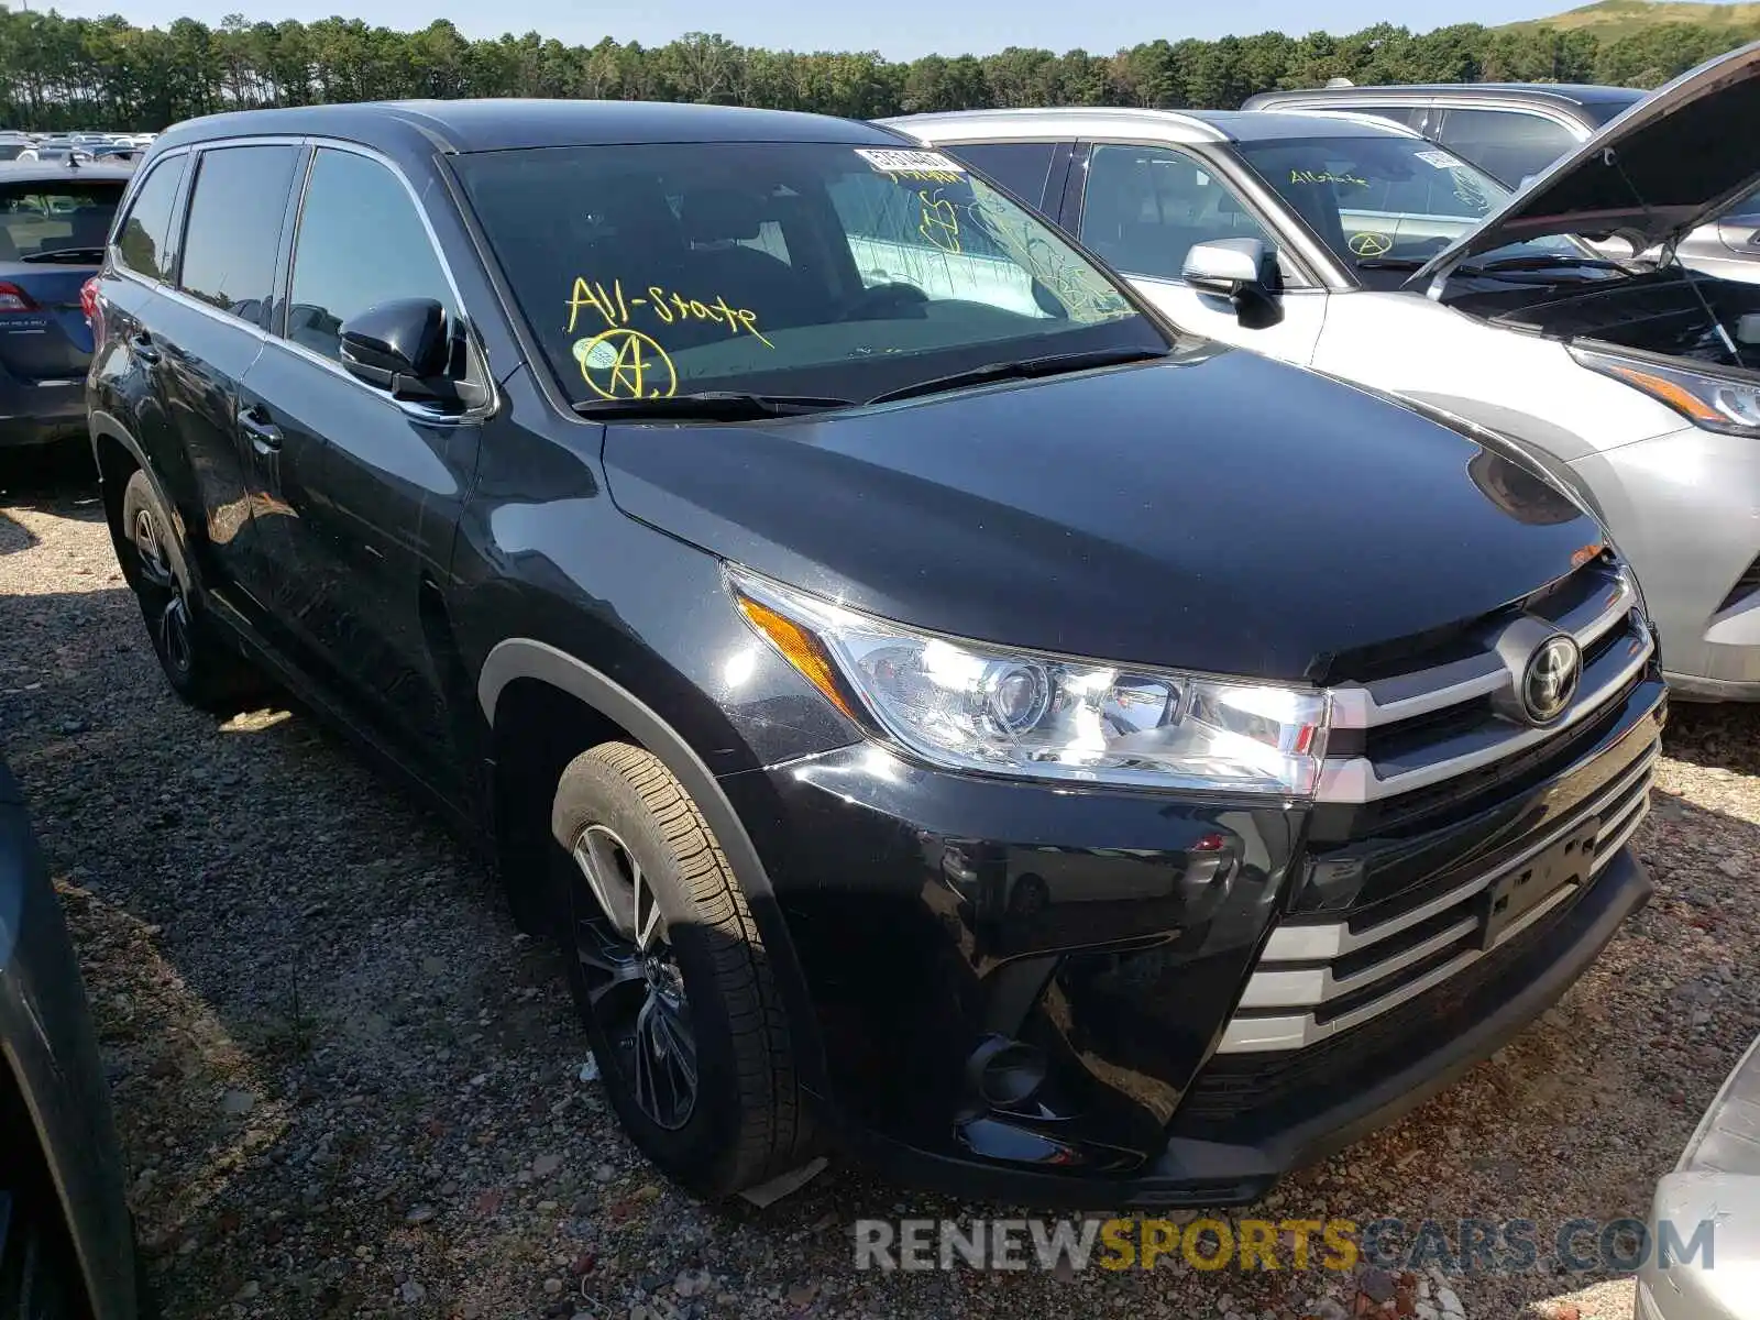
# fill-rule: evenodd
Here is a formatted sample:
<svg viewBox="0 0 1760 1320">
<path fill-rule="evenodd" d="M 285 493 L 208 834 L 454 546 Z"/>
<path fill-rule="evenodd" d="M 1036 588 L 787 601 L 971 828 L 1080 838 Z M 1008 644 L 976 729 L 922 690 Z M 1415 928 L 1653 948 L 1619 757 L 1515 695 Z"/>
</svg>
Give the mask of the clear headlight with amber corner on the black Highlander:
<svg viewBox="0 0 1760 1320">
<path fill-rule="evenodd" d="M 1308 796 L 1324 692 L 1017 651 L 845 609 L 729 565 L 741 612 L 827 700 L 959 771 Z"/>
</svg>

